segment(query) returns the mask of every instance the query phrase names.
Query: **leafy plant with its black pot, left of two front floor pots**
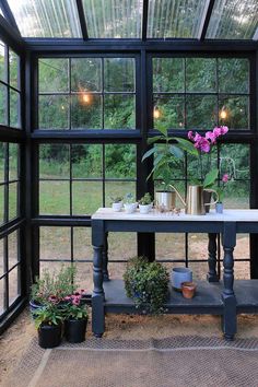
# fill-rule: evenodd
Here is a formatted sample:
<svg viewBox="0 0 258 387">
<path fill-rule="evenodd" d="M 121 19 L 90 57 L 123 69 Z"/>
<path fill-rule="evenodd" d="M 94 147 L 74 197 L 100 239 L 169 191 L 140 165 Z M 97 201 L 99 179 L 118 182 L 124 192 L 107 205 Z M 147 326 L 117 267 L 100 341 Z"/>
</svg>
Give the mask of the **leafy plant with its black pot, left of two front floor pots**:
<svg viewBox="0 0 258 387">
<path fill-rule="evenodd" d="M 55 348 L 61 342 L 63 312 L 54 302 L 33 312 L 35 327 L 38 332 L 38 344 L 42 348 Z"/>
</svg>

